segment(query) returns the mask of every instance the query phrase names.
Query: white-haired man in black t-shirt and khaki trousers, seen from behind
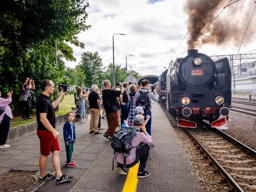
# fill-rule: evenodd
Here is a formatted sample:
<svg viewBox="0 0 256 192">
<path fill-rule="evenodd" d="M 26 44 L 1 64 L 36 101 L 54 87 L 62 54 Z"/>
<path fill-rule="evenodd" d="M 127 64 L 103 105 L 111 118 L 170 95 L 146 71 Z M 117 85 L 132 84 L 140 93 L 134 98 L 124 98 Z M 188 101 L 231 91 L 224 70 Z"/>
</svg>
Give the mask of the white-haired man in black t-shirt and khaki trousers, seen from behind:
<svg viewBox="0 0 256 192">
<path fill-rule="evenodd" d="M 97 85 L 91 86 L 92 92 L 88 96 L 89 109 L 91 111 L 90 134 L 102 134 L 98 131 L 99 117 L 101 114 L 101 98 Z"/>
</svg>

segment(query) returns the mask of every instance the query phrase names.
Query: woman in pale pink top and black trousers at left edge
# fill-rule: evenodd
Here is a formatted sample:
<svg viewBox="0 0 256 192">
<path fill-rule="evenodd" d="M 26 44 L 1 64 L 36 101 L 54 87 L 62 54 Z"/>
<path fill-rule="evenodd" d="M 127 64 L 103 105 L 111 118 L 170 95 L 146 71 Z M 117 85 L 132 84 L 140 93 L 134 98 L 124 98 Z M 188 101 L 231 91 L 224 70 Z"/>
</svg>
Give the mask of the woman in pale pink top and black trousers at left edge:
<svg viewBox="0 0 256 192">
<path fill-rule="evenodd" d="M 9 104 L 11 103 L 11 95 L 12 91 L 7 93 L 8 97 L 6 99 L 1 98 L 0 91 L 0 149 L 7 148 L 10 145 L 7 145 L 5 142 L 7 140 L 7 136 L 10 128 L 10 118 L 12 117 L 11 109 Z"/>
</svg>

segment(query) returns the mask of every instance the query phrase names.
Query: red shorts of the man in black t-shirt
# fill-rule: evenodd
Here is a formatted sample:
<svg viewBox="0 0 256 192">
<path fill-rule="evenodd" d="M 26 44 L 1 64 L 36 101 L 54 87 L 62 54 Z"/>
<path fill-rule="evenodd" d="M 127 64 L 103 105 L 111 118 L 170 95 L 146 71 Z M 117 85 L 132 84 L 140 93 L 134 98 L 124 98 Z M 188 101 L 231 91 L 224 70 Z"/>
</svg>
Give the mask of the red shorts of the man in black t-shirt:
<svg viewBox="0 0 256 192">
<path fill-rule="evenodd" d="M 37 130 L 40 140 L 40 152 L 42 155 L 48 156 L 50 152 L 60 150 L 58 139 L 55 139 L 49 130 Z"/>
</svg>

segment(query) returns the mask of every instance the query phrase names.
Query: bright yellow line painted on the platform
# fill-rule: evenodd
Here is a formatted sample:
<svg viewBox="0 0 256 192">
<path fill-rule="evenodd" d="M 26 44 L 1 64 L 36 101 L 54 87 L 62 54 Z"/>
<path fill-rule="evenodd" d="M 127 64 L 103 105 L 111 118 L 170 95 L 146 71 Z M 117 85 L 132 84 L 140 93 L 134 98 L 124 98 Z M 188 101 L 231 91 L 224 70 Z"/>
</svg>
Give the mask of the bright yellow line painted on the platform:
<svg viewBox="0 0 256 192">
<path fill-rule="evenodd" d="M 123 192 L 136 192 L 137 189 L 137 173 L 138 173 L 139 162 L 129 169 Z"/>
</svg>

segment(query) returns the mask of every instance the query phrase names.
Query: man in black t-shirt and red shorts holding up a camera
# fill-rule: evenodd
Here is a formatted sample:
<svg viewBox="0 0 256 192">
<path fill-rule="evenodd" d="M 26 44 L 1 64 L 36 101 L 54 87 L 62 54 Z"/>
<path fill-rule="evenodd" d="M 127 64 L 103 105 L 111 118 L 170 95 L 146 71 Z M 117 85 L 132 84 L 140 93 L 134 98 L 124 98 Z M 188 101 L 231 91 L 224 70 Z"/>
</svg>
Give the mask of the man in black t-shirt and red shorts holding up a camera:
<svg viewBox="0 0 256 192">
<path fill-rule="evenodd" d="M 55 111 L 54 109 L 60 103 L 65 92 L 61 91 L 59 97 L 52 101 L 49 97 L 53 94 L 55 88 L 52 80 L 43 80 L 41 83 L 42 94 L 37 99 L 37 135 L 40 140 L 40 158 L 39 167 L 40 174 L 39 181 L 48 181 L 55 179 L 57 184 L 66 182 L 73 178 L 62 174 L 60 169 L 60 147 L 58 138 L 60 134 L 55 130 Z M 53 154 L 53 165 L 56 176 L 46 174 L 47 156 Z"/>
</svg>

